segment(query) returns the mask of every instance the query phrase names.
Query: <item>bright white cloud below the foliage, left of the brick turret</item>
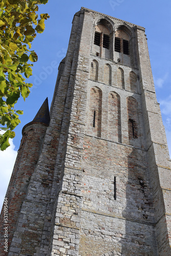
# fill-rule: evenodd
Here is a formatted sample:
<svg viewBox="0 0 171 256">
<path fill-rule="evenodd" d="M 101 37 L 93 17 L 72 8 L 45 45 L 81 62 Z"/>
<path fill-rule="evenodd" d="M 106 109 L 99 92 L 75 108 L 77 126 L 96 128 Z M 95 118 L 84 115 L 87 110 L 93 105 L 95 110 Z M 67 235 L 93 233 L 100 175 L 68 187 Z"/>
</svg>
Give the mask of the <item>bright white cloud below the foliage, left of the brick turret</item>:
<svg viewBox="0 0 171 256">
<path fill-rule="evenodd" d="M 17 156 L 17 151 L 14 150 L 15 145 L 13 144 L 12 139 L 10 139 L 9 142 L 11 145 L 5 151 L 0 151 L 0 211 L 3 206 L 4 198 L 11 178 L 15 159 Z"/>
</svg>

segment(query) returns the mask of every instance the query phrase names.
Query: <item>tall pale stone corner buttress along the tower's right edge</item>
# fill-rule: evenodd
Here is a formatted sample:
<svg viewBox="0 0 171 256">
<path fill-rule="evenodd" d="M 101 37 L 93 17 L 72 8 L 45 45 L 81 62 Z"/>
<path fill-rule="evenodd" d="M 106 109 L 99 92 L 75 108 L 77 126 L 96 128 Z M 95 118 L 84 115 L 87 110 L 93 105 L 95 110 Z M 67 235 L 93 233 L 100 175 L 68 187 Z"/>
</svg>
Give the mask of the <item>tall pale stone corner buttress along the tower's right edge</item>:
<svg viewBox="0 0 171 256">
<path fill-rule="evenodd" d="M 139 65 L 141 68 L 142 108 L 146 130 L 150 180 L 155 206 L 156 237 L 159 255 L 170 254 L 170 159 L 159 104 L 156 100 L 149 63 L 146 38 L 137 30 Z M 148 71 L 147 71 L 148 70 Z M 157 120 L 157 121 L 156 121 Z M 165 180 L 165 181 L 164 181 Z M 163 182 L 164 181 L 164 182 Z"/>
</svg>

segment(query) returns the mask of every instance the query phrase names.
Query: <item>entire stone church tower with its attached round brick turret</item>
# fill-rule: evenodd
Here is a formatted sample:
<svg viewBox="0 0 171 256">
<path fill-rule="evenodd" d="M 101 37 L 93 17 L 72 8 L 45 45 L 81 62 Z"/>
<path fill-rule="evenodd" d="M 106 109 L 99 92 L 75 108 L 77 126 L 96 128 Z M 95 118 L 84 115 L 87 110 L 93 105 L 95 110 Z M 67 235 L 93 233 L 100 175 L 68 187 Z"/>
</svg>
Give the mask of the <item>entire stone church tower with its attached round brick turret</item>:
<svg viewBox="0 0 171 256">
<path fill-rule="evenodd" d="M 170 255 L 170 159 L 145 29 L 81 8 L 50 118 L 44 104 L 24 127 L 2 255 Z M 3 211 L 1 223 L 3 234 Z"/>
</svg>

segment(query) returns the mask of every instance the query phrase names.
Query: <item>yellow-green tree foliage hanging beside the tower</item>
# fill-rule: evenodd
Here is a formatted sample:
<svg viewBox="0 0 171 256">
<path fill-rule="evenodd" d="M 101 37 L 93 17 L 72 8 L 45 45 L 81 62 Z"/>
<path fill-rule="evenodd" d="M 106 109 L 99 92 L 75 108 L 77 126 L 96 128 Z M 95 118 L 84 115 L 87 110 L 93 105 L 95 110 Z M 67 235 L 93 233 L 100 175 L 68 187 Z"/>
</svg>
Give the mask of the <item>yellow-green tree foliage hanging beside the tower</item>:
<svg viewBox="0 0 171 256">
<path fill-rule="evenodd" d="M 32 87 L 25 78 L 32 75 L 31 62 L 37 61 L 37 54 L 31 50 L 31 42 L 37 33 L 45 29 L 47 13 L 38 18 L 38 5 L 48 0 L 3 0 L 0 2 L 0 148 L 5 150 L 13 129 L 20 123 L 23 111 L 15 110 L 14 105 L 20 95 L 24 100 Z"/>
</svg>

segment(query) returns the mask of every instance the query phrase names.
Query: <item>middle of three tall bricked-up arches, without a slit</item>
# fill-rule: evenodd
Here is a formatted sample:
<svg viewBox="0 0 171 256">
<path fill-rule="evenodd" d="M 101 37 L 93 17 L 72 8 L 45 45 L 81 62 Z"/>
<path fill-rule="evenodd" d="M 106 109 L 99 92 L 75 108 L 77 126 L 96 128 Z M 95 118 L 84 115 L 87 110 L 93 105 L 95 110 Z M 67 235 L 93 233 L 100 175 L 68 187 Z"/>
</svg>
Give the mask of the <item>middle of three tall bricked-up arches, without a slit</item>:
<svg viewBox="0 0 171 256">
<path fill-rule="evenodd" d="M 121 111 L 120 111 L 120 96 L 111 92 L 109 94 L 109 109 L 108 109 L 108 137 L 113 141 L 121 143 Z"/>
</svg>

